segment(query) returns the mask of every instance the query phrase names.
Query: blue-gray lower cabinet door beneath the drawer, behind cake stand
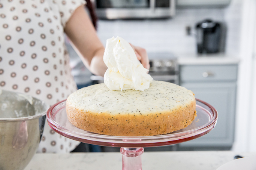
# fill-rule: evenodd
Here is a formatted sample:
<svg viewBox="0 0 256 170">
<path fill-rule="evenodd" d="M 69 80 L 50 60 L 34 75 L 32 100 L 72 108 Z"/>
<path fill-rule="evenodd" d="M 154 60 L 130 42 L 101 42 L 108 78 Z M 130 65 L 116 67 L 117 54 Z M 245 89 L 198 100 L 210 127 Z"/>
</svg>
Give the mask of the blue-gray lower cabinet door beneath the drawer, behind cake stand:
<svg viewBox="0 0 256 170">
<path fill-rule="evenodd" d="M 186 147 L 231 147 L 234 142 L 236 82 L 182 83 L 201 99 L 216 108 L 219 117 L 216 127 L 198 139 L 180 143 Z M 200 121 L 200 120 L 199 120 Z"/>
</svg>

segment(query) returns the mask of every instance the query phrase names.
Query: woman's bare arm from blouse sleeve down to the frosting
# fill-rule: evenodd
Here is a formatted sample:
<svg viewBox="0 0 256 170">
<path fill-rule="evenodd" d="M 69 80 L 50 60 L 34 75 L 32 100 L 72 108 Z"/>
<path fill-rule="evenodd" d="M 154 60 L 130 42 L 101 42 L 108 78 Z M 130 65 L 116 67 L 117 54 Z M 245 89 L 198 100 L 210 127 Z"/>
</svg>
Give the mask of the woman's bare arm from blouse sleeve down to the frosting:
<svg viewBox="0 0 256 170">
<path fill-rule="evenodd" d="M 96 75 L 104 75 L 107 67 L 103 62 L 105 48 L 97 37 L 96 30 L 84 6 L 79 6 L 64 28 L 84 65 Z"/>
</svg>

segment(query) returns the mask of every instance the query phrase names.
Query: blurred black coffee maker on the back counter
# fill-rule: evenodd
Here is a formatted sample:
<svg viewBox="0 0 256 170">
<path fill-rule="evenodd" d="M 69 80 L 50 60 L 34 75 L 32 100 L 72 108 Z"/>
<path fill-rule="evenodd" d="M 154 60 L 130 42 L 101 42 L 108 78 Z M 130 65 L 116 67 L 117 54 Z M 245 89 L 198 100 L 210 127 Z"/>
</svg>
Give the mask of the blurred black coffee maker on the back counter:
<svg viewBox="0 0 256 170">
<path fill-rule="evenodd" d="M 224 52 L 224 25 L 205 19 L 196 24 L 196 39 L 199 54 Z"/>
</svg>

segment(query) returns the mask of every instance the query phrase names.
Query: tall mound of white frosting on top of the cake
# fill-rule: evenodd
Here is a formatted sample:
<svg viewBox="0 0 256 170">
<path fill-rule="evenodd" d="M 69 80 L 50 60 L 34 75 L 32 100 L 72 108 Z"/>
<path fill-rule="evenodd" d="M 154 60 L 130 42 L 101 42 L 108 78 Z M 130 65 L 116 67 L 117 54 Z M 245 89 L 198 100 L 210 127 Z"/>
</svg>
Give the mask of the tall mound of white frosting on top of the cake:
<svg viewBox="0 0 256 170">
<path fill-rule="evenodd" d="M 123 38 L 117 36 L 107 40 L 103 60 L 108 67 L 104 83 L 110 90 L 144 91 L 150 87 L 153 78 Z"/>
</svg>

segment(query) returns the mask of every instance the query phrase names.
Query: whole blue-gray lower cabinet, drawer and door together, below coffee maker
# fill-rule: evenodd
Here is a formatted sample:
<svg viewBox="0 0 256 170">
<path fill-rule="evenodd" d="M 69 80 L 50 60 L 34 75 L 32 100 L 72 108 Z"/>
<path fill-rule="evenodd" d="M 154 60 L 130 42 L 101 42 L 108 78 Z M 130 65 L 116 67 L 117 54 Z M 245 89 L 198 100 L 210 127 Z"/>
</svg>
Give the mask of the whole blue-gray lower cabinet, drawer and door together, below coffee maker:
<svg viewBox="0 0 256 170">
<path fill-rule="evenodd" d="M 216 127 L 208 134 L 180 143 L 178 150 L 226 150 L 234 142 L 237 64 L 180 65 L 180 86 L 216 108 Z"/>
</svg>

